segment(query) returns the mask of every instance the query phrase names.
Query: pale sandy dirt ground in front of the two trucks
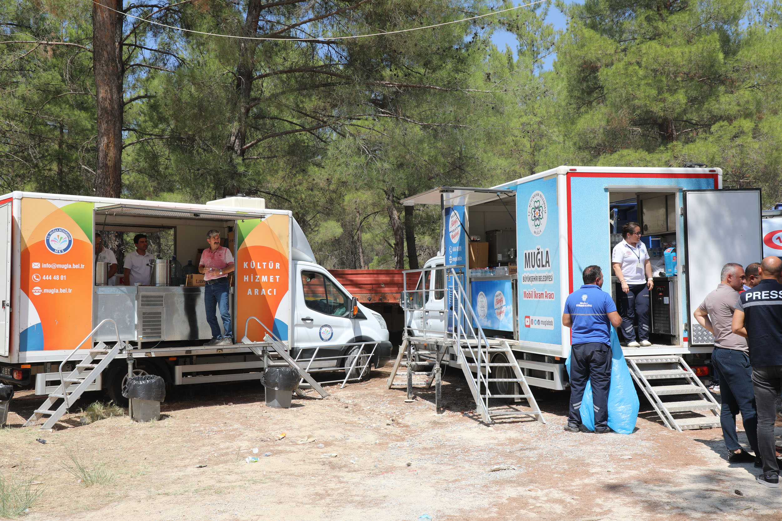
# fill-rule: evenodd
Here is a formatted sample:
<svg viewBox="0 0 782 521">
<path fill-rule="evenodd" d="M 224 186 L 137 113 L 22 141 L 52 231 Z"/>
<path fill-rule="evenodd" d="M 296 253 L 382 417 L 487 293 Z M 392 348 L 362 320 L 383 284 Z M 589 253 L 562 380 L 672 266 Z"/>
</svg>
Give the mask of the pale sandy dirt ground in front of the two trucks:
<svg viewBox="0 0 782 521">
<path fill-rule="evenodd" d="M 21 427 L 41 403 L 22 393 L 0 430 L 0 473 L 46 487 L 25 519 L 782 519 L 782 488 L 729 464 L 719 429 L 676 433 L 642 412 L 629 436 L 567 433 L 567 392 L 541 390 L 546 424 L 486 426 L 460 373 L 445 374 L 437 416 L 433 389 L 412 403 L 387 391 L 389 368 L 292 409 L 268 408 L 257 383 L 201 385 L 171 393 L 156 422 L 71 414 L 52 431 Z M 253 448 L 260 461 L 247 463 Z M 69 455 L 113 481 L 77 483 Z"/>
</svg>

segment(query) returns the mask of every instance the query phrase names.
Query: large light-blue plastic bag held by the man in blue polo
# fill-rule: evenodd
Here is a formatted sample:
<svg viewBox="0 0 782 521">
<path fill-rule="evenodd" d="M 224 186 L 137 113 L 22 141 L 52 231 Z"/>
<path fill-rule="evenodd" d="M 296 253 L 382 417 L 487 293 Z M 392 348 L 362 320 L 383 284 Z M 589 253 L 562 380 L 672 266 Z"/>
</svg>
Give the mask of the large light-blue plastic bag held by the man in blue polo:
<svg viewBox="0 0 782 521">
<path fill-rule="evenodd" d="M 638 419 L 638 394 L 627 369 L 625 356 L 622 355 L 622 346 L 619 345 L 619 337 L 611 328 L 611 387 L 608 389 L 608 426 L 619 434 L 633 434 L 636 420 Z M 570 374 L 570 357 L 565 362 Z M 581 401 L 581 421 L 589 430 L 594 430 L 594 404 L 592 402 L 592 384 L 587 381 L 584 397 Z"/>
</svg>

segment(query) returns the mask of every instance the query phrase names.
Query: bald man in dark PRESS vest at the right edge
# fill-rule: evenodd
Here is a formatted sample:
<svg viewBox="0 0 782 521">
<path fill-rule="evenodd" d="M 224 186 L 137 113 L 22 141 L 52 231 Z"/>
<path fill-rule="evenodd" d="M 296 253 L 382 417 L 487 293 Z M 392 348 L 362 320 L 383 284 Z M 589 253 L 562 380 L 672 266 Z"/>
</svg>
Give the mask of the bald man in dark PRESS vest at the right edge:
<svg viewBox="0 0 782 521">
<path fill-rule="evenodd" d="M 758 450 L 763 466 L 763 472 L 756 480 L 766 487 L 779 487 L 774 421 L 782 383 L 782 261 L 778 257 L 766 257 L 758 272 L 758 285 L 744 291 L 736 303 L 731 329 L 747 338 L 752 363 L 758 410 Z"/>
</svg>

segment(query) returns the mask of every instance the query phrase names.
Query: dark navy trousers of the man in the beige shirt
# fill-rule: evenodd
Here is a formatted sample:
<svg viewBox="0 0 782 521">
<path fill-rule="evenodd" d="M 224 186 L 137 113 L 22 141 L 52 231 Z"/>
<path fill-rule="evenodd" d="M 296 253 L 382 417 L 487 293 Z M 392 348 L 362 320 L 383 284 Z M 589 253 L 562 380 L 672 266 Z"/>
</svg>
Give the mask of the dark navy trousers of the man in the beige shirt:
<svg viewBox="0 0 782 521">
<path fill-rule="evenodd" d="M 741 448 L 736 435 L 736 415 L 741 411 L 744 432 L 755 455 L 758 453 L 758 412 L 755 409 L 755 390 L 752 388 L 752 366 L 749 356 L 736 349 L 714 348 L 712 366 L 719 374 L 719 396 L 723 409 L 719 423 L 729 451 Z"/>
</svg>

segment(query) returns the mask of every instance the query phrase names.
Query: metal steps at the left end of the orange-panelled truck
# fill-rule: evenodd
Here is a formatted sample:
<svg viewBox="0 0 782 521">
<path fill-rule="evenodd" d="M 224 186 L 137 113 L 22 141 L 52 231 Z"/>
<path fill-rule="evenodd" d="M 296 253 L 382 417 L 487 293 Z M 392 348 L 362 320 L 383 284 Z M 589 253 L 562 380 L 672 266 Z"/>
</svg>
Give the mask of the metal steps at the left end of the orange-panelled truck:
<svg viewBox="0 0 782 521">
<path fill-rule="evenodd" d="M 79 345 L 81 346 L 81 344 Z M 33 416 L 30 416 L 23 426 L 35 425 L 39 419 L 48 416 L 41 429 L 51 429 L 63 417 L 63 414 L 81 398 L 81 394 L 87 391 L 87 388 L 95 382 L 98 375 L 109 366 L 125 345 L 124 342 L 117 341 L 113 348 L 109 349 L 106 348 L 106 344 L 101 342 L 95 348 L 90 349 L 88 355 L 76 364 L 73 371 L 65 375 L 61 372 L 57 388 L 48 395 L 40 409 L 35 409 Z M 67 360 L 63 361 L 63 364 Z M 62 403 L 57 409 L 53 409 L 59 400 L 62 400 Z"/>
</svg>

